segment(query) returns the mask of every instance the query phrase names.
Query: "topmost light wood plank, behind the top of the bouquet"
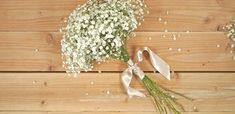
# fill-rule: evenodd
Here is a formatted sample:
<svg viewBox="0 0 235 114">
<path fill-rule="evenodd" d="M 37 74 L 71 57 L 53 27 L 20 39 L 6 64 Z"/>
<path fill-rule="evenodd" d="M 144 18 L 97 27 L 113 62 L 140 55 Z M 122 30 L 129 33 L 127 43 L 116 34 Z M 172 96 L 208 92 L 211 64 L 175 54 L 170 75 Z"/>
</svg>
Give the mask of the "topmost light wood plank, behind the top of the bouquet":
<svg viewBox="0 0 235 114">
<path fill-rule="evenodd" d="M 56 32 L 85 0 L 1 0 L 0 31 Z M 217 31 L 235 16 L 231 0 L 148 0 L 150 14 L 138 31 Z M 167 15 L 166 12 L 169 12 Z M 158 18 L 163 19 L 162 22 Z M 168 24 L 165 25 L 164 21 Z"/>
</svg>

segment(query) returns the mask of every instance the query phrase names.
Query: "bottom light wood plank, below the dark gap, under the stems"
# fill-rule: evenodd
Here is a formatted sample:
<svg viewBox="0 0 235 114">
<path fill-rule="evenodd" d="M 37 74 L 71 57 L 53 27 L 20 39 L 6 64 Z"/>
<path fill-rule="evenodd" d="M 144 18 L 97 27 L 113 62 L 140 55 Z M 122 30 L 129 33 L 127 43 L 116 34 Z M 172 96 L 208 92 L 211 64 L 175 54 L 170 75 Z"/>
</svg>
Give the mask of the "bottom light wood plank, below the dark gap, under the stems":
<svg viewBox="0 0 235 114">
<path fill-rule="evenodd" d="M 64 73 L 0 75 L 1 113 L 93 114 L 98 111 L 109 114 L 152 114 L 155 111 L 150 97 L 127 97 L 119 73 L 83 73 L 78 78 L 68 77 Z M 187 113 L 235 112 L 234 73 L 177 73 L 172 81 L 163 79 L 159 74 L 148 75 L 161 85 L 195 99 L 190 102 L 179 98 Z M 132 87 L 146 93 L 146 89 L 136 79 Z M 106 94 L 106 91 L 110 91 L 110 94 Z"/>
</svg>

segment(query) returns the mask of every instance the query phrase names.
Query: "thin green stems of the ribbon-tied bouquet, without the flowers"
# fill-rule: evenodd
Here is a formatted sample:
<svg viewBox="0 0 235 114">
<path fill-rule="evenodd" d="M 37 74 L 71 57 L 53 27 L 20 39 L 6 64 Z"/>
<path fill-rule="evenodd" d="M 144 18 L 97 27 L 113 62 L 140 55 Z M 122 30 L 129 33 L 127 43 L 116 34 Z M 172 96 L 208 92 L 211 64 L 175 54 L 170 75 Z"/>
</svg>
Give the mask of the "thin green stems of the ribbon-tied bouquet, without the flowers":
<svg viewBox="0 0 235 114">
<path fill-rule="evenodd" d="M 127 63 L 130 59 L 130 56 L 126 49 L 123 50 L 123 60 Z M 145 87 L 147 88 L 149 94 L 153 98 L 154 105 L 156 109 L 159 111 L 160 114 L 168 114 L 173 112 L 174 114 L 181 114 L 178 109 L 184 111 L 183 106 L 178 103 L 174 95 L 178 95 L 184 97 L 188 100 L 193 100 L 184 96 L 183 94 L 174 92 L 167 88 L 162 87 L 161 85 L 154 82 L 150 79 L 147 75 L 145 75 L 144 79 L 142 80 Z"/>
</svg>

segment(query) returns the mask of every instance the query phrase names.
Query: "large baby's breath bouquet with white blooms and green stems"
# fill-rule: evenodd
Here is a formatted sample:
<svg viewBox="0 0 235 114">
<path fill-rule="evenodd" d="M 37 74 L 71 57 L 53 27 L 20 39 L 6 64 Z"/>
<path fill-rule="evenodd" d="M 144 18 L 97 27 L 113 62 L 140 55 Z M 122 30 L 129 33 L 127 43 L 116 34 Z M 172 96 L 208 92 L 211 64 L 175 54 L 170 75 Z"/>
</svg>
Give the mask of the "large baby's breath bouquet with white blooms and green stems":
<svg viewBox="0 0 235 114">
<path fill-rule="evenodd" d="M 144 14 L 148 12 L 145 8 L 144 0 L 88 0 L 78 6 L 70 14 L 67 26 L 62 28 L 62 57 L 66 72 L 76 76 L 80 71 L 91 71 L 95 63 L 107 59 L 133 64 L 126 41 L 144 19 Z M 159 113 L 179 114 L 176 108 L 183 107 L 171 95 L 178 93 L 155 83 L 136 64 L 132 66 L 135 67 L 130 73 L 138 68 L 137 74 L 142 74 L 141 80 L 153 97 Z M 132 89 L 129 92 L 133 92 Z"/>
</svg>

